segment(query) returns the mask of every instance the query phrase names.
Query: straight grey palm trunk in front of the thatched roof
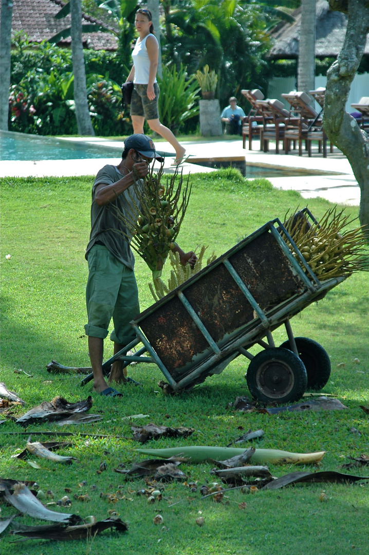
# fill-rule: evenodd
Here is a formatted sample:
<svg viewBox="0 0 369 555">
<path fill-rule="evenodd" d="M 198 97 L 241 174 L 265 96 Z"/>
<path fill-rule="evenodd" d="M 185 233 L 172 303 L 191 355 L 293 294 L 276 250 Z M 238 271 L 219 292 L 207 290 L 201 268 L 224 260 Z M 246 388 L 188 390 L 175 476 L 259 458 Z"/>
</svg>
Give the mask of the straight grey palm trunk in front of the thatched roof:
<svg viewBox="0 0 369 555">
<path fill-rule="evenodd" d="M 315 8 L 316 0 L 302 0 L 297 90 L 315 89 Z"/>
</svg>

